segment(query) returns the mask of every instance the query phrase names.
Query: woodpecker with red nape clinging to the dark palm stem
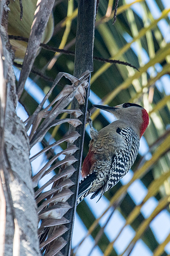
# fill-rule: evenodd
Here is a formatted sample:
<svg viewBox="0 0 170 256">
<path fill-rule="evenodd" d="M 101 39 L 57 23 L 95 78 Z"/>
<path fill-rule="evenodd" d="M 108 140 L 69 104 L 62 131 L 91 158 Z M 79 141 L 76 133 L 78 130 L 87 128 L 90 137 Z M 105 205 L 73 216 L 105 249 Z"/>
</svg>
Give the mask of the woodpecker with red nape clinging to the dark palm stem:
<svg viewBox="0 0 170 256">
<path fill-rule="evenodd" d="M 98 132 L 88 118 L 91 141 L 82 165 L 77 204 L 90 193 L 93 193 L 91 199 L 99 194 L 101 198 L 130 170 L 138 155 L 139 140 L 149 123 L 147 111 L 138 104 L 93 106 L 112 113 L 117 120 Z"/>
</svg>

